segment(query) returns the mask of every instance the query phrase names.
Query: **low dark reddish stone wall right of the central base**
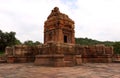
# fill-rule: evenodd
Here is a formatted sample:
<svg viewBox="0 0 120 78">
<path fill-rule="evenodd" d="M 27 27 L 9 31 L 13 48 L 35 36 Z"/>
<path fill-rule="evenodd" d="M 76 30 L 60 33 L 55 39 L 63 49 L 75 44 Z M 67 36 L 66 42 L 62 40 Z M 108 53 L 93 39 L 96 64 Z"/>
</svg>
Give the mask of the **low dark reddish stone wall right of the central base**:
<svg viewBox="0 0 120 78">
<path fill-rule="evenodd" d="M 113 47 L 104 45 L 85 46 L 82 54 L 82 62 L 110 63 L 113 58 Z"/>
</svg>

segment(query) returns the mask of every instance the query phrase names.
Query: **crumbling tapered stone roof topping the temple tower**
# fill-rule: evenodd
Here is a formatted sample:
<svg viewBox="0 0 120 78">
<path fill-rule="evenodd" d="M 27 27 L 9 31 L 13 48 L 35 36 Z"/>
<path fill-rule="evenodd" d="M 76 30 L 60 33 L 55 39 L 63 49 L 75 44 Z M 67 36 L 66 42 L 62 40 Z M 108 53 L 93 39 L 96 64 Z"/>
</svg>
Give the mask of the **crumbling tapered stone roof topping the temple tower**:
<svg viewBox="0 0 120 78">
<path fill-rule="evenodd" d="M 58 7 L 55 7 L 44 23 L 45 29 L 56 27 L 74 28 L 74 21 L 68 15 L 61 13 Z"/>
</svg>

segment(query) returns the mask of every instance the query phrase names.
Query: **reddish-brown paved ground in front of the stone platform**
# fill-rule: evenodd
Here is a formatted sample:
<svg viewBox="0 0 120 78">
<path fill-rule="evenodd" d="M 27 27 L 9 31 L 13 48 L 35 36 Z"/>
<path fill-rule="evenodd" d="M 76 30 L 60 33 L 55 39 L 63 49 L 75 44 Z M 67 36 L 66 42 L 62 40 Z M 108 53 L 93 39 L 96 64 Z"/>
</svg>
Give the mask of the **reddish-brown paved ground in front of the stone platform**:
<svg viewBox="0 0 120 78">
<path fill-rule="evenodd" d="M 86 63 L 74 67 L 0 64 L 0 78 L 120 78 L 120 63 Z"/>
</svg>

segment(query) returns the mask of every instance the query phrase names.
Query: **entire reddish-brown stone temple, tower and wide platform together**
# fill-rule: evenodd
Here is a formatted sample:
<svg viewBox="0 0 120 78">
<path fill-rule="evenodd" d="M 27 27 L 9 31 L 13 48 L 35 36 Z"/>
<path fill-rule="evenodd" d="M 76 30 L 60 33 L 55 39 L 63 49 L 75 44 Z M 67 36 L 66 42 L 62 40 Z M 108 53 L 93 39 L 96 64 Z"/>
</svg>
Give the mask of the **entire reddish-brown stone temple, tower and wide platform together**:
<svg viewBox="0 0 120 78">
<path fill-rule="evenodd" d="M 74 21 L 55 7 L 44 23 L 44 44 L 6 47 L 6 61 L 55 67 L 112 62 L 112 46 L 75 44 L 74 32 Z"/>
</svg>

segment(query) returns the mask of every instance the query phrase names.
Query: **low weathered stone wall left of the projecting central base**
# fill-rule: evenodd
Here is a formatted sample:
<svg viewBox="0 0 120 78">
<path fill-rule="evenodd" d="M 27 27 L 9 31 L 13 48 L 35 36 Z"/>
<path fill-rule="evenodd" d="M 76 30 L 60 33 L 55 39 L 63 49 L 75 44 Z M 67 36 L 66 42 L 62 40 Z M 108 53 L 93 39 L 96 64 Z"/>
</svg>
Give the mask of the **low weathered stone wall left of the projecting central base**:
<svg viewBox="0 0 120 78">
<path fill-rule="evenodd" d="M 9 63 L 25 63 L 34 62 L 35 56 L 40 54 L 42 45 L 38 46 L 26 46 L 26 45 L 16 45 L 13 47 L 6 47 L 5 56 L 7 57 L 7 62 Z"/>
</svg>

